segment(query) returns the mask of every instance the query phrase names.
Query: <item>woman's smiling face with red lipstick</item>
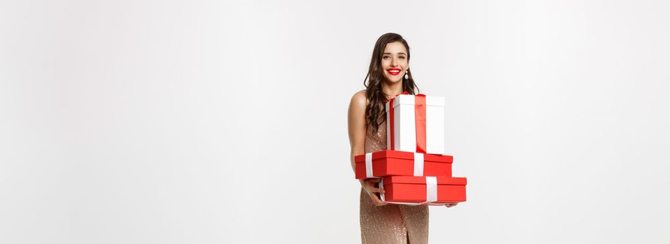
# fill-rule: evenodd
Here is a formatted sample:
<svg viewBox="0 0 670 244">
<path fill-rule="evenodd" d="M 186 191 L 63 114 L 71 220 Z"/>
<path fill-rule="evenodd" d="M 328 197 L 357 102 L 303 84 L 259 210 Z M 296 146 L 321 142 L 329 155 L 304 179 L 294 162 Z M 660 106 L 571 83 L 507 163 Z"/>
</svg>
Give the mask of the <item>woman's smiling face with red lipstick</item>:
<svg viewBox="0 0 670 244">
<path fill-rule="evenodd" d="M 391 83 L 401 82 L 408 68 L 409 61 L 405 46 L 400 42 L 386 44 L 381 55 L 381 69 L 386 80 Z"/>
</svg>

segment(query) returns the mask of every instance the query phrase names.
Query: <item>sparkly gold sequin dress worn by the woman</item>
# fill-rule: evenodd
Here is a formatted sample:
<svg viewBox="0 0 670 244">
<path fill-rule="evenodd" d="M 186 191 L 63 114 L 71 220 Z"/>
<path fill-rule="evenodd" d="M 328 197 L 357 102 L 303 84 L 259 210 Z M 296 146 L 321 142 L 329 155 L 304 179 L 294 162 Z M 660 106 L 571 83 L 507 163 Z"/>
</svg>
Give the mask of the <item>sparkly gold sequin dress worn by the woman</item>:
<svg viewBox="0 0 670 244">
<path fill-rule="evenodd" d="M 386 149 L 386 122 L 379 130 L 368 125 L 365 153 Z M 374 206 L 363 188 L 360 189 L 360 238 L 373 243 L 428 243 L 428 206 L 386 204 Z"/>
</svg>

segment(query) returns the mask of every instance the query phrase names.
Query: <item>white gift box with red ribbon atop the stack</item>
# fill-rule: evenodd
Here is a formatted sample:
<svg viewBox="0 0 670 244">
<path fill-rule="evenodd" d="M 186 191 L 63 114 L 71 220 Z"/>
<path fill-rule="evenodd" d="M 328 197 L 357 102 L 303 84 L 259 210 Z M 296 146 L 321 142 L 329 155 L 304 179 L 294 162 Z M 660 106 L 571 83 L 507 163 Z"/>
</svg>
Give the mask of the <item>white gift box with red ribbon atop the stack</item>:
<svg viewBox="0 0 670 244">
<path fill-rule="evenodd" d="M 400 94 L 386 102 L 386 148 L 443 154 L 444 98 Z"/>
</svg>

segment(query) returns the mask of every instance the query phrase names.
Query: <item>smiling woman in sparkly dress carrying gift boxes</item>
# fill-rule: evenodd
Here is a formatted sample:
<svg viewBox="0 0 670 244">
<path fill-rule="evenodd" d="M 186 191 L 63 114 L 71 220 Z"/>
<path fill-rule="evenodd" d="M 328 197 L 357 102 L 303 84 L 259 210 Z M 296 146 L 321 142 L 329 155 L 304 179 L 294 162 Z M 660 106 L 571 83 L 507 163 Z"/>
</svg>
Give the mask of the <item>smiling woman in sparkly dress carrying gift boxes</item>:
<svg viewBox="0 0 670 244">
<path fill-rule="evenodd" d="M 384 103 L 417 89 L 409 71 L 409 45 L 397 33 L 383 34 L 374 45 L 365 90 L 349 104 L 349 143 L 353 156 L 386 149 Z M 386 204 L 376 193 L 379 179 L 360 180 L 360 236 L 363 243 L 428 243 L 428 207 Z M 447 207 L 455 206 L 449 204 Z"/>
</svg>

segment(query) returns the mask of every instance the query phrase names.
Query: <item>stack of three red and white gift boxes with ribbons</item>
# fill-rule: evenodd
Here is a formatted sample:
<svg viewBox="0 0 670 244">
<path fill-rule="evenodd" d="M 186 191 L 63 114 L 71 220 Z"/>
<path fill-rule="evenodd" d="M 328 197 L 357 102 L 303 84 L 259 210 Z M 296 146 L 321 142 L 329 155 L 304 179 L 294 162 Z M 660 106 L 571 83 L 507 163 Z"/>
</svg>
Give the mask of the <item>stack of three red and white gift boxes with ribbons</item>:
<svg viewBox="0 0 670 244">
<path fill-rule="evenodd" d="M 444 153 L 444 98 L 402 93 L 386 102 L 386 148 L 356 155 L 356 178 L 381 178 L 381 201 L 444 205 L 465 201 L 466 178 L 452 177 Z"/>
</svg>

